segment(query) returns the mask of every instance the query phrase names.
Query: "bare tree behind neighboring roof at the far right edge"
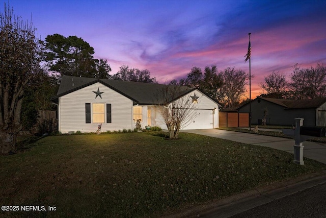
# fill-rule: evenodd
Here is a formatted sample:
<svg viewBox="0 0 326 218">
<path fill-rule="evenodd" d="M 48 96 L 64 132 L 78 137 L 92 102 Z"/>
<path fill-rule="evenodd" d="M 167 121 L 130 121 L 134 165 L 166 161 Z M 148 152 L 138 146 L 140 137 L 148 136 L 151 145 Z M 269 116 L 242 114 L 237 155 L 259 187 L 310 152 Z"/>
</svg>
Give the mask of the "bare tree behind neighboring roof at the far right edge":
<svg viewBox="0 0 326 218">
<path fill-rule="evenodd" d="M 315 99 L 326 97 L 326 67 L 318 63 L 316 67 L 293 66 L 290 90 L 294 99 Z"/>
</svg>

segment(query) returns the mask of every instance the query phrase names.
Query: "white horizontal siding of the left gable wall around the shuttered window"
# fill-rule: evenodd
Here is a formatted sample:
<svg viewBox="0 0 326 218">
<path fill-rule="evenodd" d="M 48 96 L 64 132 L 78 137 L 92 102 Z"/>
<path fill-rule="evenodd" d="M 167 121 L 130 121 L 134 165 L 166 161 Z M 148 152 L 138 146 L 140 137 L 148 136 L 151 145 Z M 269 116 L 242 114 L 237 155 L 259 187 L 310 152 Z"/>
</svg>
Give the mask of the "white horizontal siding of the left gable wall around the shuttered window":
<svg viewBox="0 0 326 218">
<path fill-rule="evenodd" d="M 100 98 L 93 91 L 101 92 Z M 86 103 L 105 104 L 105 122 L 102 123 L 102 132 L 107 130 L 133 129 L 132 127 L 132 101 L 124 95 L 104 86 L 95 83 L 85 88 L 76 90 L 59 98 L 59 131 L 96 132 L 99 124 L 86 124 Z M 106 104 L 112 106 L 112 123 L 106 123 Z M 92 107 L 91 107 L 92 108 Z"/>
</svg>

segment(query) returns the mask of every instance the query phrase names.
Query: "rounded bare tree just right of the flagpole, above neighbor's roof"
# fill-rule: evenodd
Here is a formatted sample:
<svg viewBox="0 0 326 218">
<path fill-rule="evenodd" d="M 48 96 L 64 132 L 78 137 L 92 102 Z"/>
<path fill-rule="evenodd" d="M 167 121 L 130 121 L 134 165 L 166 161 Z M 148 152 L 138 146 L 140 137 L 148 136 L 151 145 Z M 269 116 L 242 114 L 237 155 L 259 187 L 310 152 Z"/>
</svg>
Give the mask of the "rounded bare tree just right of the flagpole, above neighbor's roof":
<svg viewBox="0 0 326 218">
<path fill-rule="evenodd" d="M 266 91 L 266 94 L 263 94 L 264 96 L 282 99 L 286 96 L 288 83 L 284 74 L 274 70 L 264 77 L 264 82 L 259 86 Z"/>
</svg>

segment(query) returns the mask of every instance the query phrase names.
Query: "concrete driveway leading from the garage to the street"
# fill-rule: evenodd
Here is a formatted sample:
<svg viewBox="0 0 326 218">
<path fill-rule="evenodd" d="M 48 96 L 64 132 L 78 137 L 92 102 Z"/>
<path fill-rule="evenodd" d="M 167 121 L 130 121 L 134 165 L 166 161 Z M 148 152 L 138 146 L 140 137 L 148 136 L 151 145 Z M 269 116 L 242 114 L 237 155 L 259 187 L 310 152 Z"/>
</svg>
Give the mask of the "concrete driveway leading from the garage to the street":
<svg viewBox="0 0 326 218">
<path fill-rule="evenodd" d="M 215 138 L 222 138 L 231 141 L 237 141 L 247 144 L 255 144 L 256 146 L 264 146 L 273 149 L 286 151 L 293 154 L 294 140 L 288 138 L 279 138 L 273 136 L 256 135 L 250 133 L 241 133 L 227 130 L 205 129 L 205 130 L 182 130 L 181 132 L 189 132 L 200 135 L 206 135 Z M 322 162 L 326 164 L 326 143 L 305 141 L 304 157 Z"/>
</svg>

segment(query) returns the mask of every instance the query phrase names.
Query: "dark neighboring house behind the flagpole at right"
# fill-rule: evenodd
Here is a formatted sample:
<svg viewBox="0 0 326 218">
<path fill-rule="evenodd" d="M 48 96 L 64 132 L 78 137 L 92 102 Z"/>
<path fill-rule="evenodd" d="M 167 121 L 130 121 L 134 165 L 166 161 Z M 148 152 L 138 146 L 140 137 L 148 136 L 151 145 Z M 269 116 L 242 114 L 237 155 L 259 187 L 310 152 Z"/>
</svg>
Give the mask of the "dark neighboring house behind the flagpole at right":
<svg viewBox="0 0 326 218">
<path fill-rule="evenodd" d="M 285 100 L 258 97 L 251 102 L 252 124 L 264 118 L 267 125 L 294 125 L 294 118 L 304 118 L 305 126 L 326 126 L 326 98 L 310 100 Z M 249 103 L 238 112 L 249 112 Z"/>
</svg>

